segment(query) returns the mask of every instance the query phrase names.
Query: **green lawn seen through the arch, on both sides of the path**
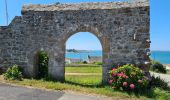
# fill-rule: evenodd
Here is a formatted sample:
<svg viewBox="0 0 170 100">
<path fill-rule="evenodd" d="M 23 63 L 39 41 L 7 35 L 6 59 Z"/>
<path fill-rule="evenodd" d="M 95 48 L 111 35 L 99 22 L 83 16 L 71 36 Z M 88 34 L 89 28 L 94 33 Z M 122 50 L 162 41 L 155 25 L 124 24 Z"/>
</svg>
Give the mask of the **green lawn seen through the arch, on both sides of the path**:
<svg viewBox="0 0 170 100">
<path fill-rule="evenodd" d="M 66 73 L 98 73 L 99 75 L 65 75 L 65 80 L 68 83 L 79 84 L 83 86 L 98 86 L 102 83 L 102 67 L 80 65 L 80 67 L 66 66 Z"/>
</svg>

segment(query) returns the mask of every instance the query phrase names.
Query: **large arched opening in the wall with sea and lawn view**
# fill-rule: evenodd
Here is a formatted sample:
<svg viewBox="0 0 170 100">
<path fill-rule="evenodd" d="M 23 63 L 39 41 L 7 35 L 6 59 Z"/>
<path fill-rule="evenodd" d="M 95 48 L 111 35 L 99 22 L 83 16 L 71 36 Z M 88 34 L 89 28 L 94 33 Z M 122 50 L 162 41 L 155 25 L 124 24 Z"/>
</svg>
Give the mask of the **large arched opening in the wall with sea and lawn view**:
<svg viewBox="0 0 170 100">
<path fill-rule="evenodd" d="M 102 84 L 103 49 L 90 32 L 72 34 L 65 42 L 65 81 L 79 85 Z"/>
</svg>

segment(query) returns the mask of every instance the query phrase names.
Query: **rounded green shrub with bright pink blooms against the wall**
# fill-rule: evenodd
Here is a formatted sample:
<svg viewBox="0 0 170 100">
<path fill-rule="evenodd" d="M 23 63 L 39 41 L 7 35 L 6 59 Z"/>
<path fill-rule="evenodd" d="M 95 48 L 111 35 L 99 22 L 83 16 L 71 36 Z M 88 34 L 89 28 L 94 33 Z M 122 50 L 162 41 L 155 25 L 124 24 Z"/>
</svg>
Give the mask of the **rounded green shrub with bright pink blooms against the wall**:
<svg viewBox="0 0 170 100">
<path fill-rule="evenodd" d="M 139 68 L 132 64 L 113 68 L 109 72 L 109 84 L 125 91 L 140 91 L 148 86 L 148 79 Z"/>
</svg>

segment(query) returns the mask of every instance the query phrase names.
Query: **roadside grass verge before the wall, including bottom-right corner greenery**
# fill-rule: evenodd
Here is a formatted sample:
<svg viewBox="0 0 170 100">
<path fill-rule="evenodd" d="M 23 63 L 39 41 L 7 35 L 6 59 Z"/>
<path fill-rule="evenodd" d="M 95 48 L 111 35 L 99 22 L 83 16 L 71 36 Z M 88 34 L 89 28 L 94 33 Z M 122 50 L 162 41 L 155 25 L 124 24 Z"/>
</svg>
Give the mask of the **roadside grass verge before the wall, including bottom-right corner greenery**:
<svg viewBox="0 0 170 100">
<path fill-rule="evenodd" d="M 144 95 L 128 94 L 123 91 L 117 91 L 110 86 L 82 86 L 78 84 L 71 83 L 61 83 L 55 81 L 45 81 L 45 80 L 35 80 L 35 79 L 23 79 L 23 81 L 7 81 L 9 83 L 32 86 L 36 88 L 45 88 L 53 90 L 71 90 L 81 93 L 88 94 L 98 94 L 113 97 L 113 99 L 125 99 L 125 100 L 170 100 L 170 91 L 161 90 L 159 88 L 154 88 Z"/>
</svg>

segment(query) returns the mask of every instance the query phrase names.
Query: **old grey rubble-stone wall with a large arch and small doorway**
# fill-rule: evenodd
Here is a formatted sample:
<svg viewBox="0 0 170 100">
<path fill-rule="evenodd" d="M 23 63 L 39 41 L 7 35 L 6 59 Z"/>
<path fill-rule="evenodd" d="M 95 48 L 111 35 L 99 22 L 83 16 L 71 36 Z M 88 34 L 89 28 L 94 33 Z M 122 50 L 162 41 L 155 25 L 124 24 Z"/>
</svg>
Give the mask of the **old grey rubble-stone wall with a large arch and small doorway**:
<svg viewBox="0 0 170 100">
<path fill-rule="evenodd" d="M 103 47 L 106 81 L 113 64 L 146 66 L 149 25 L 147 2 L 25 5 L 22 16 L 0 27 L 0 67 L 18 64 L 24 75 L 35 77 L 36 54 L 44 50 L 49 55 L 49 75 L 64 80 L 67 39 L 77 32 L 91 32 Z"/>
</svg>

